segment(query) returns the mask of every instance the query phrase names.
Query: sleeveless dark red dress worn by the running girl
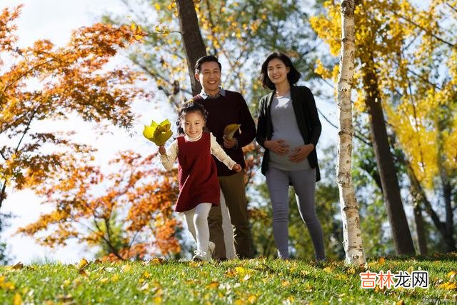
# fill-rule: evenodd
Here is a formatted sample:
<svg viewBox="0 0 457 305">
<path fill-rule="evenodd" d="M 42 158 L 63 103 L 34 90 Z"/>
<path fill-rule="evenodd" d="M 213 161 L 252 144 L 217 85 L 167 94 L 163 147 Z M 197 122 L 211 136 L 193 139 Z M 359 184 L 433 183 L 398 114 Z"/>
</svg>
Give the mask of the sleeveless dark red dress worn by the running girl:
<svg viewBox="0 0 457 305">
<path fill-rule="evenodd" d="M 175 211 L 189 211 L 204 202 L 219 205 L 219 180 L 209 132 L 198 141 L 186 141 L 184 136 L 177 141 L 179 196 Z"/>
</svg>

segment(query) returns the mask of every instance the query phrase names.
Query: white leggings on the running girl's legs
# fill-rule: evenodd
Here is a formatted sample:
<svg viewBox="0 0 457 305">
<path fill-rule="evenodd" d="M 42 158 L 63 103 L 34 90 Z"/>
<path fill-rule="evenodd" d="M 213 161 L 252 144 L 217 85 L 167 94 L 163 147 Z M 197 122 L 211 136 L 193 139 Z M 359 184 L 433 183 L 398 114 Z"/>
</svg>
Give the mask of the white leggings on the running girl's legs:
<svg viewBox="0 0 457 305">
<path fill-rule="evenodd" d="M 209 246 L 208 214 L 212 204 L 199 204 L 195 209 L 184 212 L 187 227 L 197 243 L 197 250 L 206 252 Z"/>
</svg>

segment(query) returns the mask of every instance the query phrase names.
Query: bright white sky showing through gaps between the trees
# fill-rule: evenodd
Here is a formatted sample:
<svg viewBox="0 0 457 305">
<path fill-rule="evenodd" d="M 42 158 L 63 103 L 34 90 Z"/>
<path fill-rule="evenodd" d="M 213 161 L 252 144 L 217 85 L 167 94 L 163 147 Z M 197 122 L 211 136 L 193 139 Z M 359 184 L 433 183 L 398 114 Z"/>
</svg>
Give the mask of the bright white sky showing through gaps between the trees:
<svg viewBox="0 0 457 305">
<path fill-rule="evenodd" d="M 123 6 L 114 0 L 0 0 L 0 9 L 24 4 L 21 16 L 16 21 L 19 36 L 19 46 L 29 46 L 37 39 L 49 39 L 56 46 L 63 46 L 69 41 L 71 31 L 80 26 L 89 26 L 99 21 L 101 15 L 108 12 L 122 14 Z M 123 59 L 119 59 L 123 62 Z M 229 89 L 229 88 L 227 88 Z M 329 90 L 331 90 L 329 88 Z M 157 95 L 153 99 L 161 99 Z M 336 123 L 336 109 L 331 101 L 319 101 L 316 99 L 318 107 L 328 116 L 331 121 Z M 95 136 L 88 124 L 84 124 L 79 119 L 74 119 L 66 124 L 69 130 L 77 129 L 79 139 L 84 139 L 99 148 L 97 160 L 101 164 L 114 156 L 116 151 L 121 148 L 132 148 L 139 152 L 151 153 L 155 149 L 149 142 L 141 136 L 144 124 L 149 124 L 151 119 L 161 121 L 166 119 L 163 110 L 152 106 L 151 101 L 138 101 L 135 104 L 136 111 L 143 114 L 134 126 L 134 136 L 120 134 L 113 130 L 105 136 Z M 169 109 L 168 109 L 169 111 Z M 336 143 L 336 130 L 321 118 L 323 132 L 320 140 L 321 146 Z M 42 130 L 54 128 L 53 124 L 40 126 Z M 21 261 L 24 264 L 43 261 L 61 261 L 66 264 L 73 264 L 82 257 L 90 259 L 93 255 L 90 251 L 76 244 L 69 242 L 68 246 L 59 249 L 49 249 L 39 246 L 33 239 L 15 235 L 14 232 L 21 226 L 30 224 L 42 213 L 50 211 L 50 207 L 40 204 L 41 199 L 37 198 L 33 191 L 11 191 L 9 197 L 1 206 L 4 213 L 11 212 L 14 219 L 11 219 L 9 228 L 1 234 L 2 240 L 9 244 L 9 254 L 14 257 L 13 263 Z"/>
</svg>

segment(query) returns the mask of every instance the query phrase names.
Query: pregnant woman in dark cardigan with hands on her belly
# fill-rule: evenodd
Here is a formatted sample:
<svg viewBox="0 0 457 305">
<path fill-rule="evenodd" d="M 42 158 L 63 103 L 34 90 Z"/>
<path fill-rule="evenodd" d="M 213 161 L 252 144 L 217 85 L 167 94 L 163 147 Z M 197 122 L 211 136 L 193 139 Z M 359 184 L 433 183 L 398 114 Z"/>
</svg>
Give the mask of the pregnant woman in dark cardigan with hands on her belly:
<svg viewBox="0 0 457 305">
<path fill-rule="evenodd" d="M 311 90 L 294 86 L 301 74 L 291 59 L 272 53 L 262 64 L 263 86 L 273 90 L 259 103 L 256 141 L 264 149 L 262 174 L 273 206 L 273 236 L 278 257 L 288 259 L 288 186 L 293 185 L 301 219 L 308 227 L 316 260 L 325 259 L 323 234 L 314 208 L 321 179 L 316 145 L 321 135 Z"/>
</svg>

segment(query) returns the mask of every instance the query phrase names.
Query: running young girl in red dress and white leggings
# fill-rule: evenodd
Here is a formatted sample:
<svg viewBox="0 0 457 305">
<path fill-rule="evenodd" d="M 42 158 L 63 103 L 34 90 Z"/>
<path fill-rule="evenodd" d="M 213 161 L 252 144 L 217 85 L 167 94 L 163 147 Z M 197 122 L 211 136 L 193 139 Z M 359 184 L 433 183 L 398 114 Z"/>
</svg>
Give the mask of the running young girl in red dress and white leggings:
<svg viewBox="0 0 457 305">
<path fill-rule="evenodd" d="M 204 131 L 207 116 L 204 106 L 187 102 L 179 109 L 178 116 L 179 136 L 168 151 L 164 146 L 159 147 L 161 163 L 168 170 L 178 158 L 179 196 L 175 211 L 184 212 L 197 243 L 194 261 L 209 261 L 215 245 L 209 241 L 208 214 L 220 198 L 216 163 L 211 154 L 234 171 L 241 171 L 241 165 L 227 156 L 211 133 Z"/>
</svg>

